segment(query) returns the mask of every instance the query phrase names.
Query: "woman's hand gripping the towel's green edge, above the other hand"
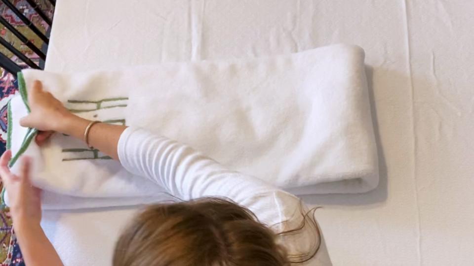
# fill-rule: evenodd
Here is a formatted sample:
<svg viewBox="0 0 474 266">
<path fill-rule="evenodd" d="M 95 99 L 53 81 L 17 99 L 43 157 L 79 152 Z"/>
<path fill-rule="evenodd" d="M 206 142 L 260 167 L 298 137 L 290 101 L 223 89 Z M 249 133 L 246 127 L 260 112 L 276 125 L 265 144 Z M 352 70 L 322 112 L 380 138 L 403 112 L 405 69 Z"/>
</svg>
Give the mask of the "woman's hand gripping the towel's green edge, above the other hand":
<svg viewBox="0 0 474 266">
<path fill-rule="evenodd" d="M 31 112 L 20 120 L 20 125 L 40 131 L 36 136 L 39 145 L 53 132 L 61 131 L 65 121 L 72 116 L 59 100 L 43 91 L 39 80 L 35 80 L 28 92 L 28 103 Z"/>
</svg>

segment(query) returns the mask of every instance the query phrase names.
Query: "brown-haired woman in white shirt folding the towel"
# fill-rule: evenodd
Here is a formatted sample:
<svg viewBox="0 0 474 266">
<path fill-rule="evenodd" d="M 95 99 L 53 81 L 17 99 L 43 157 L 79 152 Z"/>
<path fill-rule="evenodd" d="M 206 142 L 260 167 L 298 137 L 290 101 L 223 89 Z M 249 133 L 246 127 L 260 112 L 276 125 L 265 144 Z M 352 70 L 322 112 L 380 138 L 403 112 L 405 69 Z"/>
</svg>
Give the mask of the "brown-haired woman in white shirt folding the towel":
<svg viewBox="0 0 474 266">
<path fill-rule="evenodd" d="M 83 139 L 186 200 L 150 205 L 138 214 L 117 241 L 114 266 L 331 264 L 313 212 L 297 197 L 165 137 L 75 116 L 39 81 L 29 104 L 31 113 L 20 123 L 40 131 L 39 145 L 54 132 Z M 7 167 L 10 158 L 10 151 L 1 156 L 0 175 L 25 263 L 62 265 L 40 227 L 40 190 L 30 183 L 30 159 L 22 158 L 16 176 Z"/>
</svg>

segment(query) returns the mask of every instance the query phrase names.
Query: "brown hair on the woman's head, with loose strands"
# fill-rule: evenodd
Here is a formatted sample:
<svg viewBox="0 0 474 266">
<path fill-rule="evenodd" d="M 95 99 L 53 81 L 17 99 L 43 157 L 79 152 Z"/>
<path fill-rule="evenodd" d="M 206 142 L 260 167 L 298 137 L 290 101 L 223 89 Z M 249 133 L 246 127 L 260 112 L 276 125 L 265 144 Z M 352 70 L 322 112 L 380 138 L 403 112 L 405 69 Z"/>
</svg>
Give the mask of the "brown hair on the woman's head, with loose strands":
<svg viewBox="0 0 474 266">
<path fill-rule="evenodd" d="M 281 234 L 294 234 L 306 225 Z M 314 219 L 312 220 L 316 225 Z M 316 225 L 316 230 L 317 225 Z M 278 234 L 248 209 L 217 198 L 148 206 L 116 244 L 114 266 L 289 266 L 315 256 L 288 255 Z"/>
</svg>

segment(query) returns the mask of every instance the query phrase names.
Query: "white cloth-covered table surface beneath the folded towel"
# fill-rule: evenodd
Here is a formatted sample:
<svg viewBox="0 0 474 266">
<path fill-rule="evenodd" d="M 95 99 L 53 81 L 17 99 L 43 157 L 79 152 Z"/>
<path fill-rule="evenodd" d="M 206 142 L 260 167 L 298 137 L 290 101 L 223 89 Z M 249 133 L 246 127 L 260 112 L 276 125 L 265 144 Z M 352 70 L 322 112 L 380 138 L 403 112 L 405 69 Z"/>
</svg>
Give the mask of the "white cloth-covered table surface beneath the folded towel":
<svg viewBox="0 0 474 266">
<path fill-rule="evenodd" d="M 58 0 L 46 69 L 357 44 L 369 65 L 381 184 L 305 198 L 324 206 L 316 214 L 334 265 L 472 265 L 473 13 L 463 0 Z M 67 265 L 104 265 L 114 244 L 104 239 L 132 213 L 48 212 L 43 227 Z M 75 234 L 90 241 L 74 243 Z"/>
</svg>

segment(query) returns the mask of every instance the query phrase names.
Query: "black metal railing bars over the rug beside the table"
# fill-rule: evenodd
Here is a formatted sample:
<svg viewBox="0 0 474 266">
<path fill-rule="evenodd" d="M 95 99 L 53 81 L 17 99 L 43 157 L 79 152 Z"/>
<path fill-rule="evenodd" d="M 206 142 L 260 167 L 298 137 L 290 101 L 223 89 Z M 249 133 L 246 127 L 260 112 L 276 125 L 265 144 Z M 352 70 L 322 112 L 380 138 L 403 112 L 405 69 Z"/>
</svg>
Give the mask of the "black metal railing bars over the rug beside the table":
<svg viewBox="0 0 474 266">
<path fill-rule="evenodd" d="M 56 1 L 48 1 L 52 5 L 52 8 L 54 8 Z M 49 28 L 47 31 L 41 31 L 40 28 L 37 27 L 32 20 L 30 20 L 27 16 L 24 15 L 24 13 L 19 8 L 17 8 L 16 5 L 18 5 L 19 1 L 1 0 L 1 2 L 6 6 L 6 8 L 11 10 L 14 16 L 16 16 L 24 24 L 24 26 L 28 27 L 28 29 L 34 35 L 36 35 L 40 39 L 40 41 L 42 41 L 42 45 L 38 47 L 37 45 L 35 45 L 35 43 L 32 42 L 31 38 L 27 37 L 25 33 L 22 33 L 14 25 L 12 25 L 12 23 L 10 23 L 11 17 L 0 16 L 0 24 L 3 25 L 10 33 L 16 36 L 22 44 L 24 44 L 38 56 L 36 57 L 37 62 L 38 59 L 40 59 L 40 62 L 44 62 L 44 60 L 46 60 L 47 45 L 49 44 L 49 30 L 51 29 L 53 19 L 48 17 L 48 15 L 43 10 L 41 10 L 40 5 L 38 5 L 35 0 L 26 0 L 31 9 L 33 9 L 38 14 L 39 18 L 44 21 Z M 16 56 L 16 58 L 18 58 L 18 62 L 15 62 L 7 55 L 0 52 L 0 67 L 5 69 L 7 72 L 16 76 L 16 73 L 25 66 L 36 69 L 43 68 L 42 65 L 44 64 L 35 63 L 34 60 L 28 57 L 27 53 L 25 53 L 24 51 L 22 53 L 17 47 L 15 47 L 12 43 L 10 43 L 2 36 L 0 36 L 0 45 L 6 48 L 6 50 L 9 51 L 11 54 Z M 31 52 L 29 52 L 28 54 L 31 54 Z"/>
</svg>

